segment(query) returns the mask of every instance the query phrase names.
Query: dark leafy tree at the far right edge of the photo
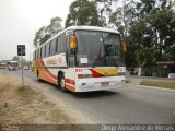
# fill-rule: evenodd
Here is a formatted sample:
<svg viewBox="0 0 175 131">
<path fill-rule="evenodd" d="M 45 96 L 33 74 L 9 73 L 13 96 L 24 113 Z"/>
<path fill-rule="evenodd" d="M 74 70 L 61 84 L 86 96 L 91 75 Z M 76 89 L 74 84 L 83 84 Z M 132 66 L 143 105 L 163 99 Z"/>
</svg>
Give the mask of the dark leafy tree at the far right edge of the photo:
<svg viewBox="0 0 175 131">
<path fill-rule="evenodd" d="M 163 60 L 164 56 L 173 52 L 175 46 L 175 12 L 170 9 L 156 10 L 148 17 L 156 38 L 158 60 Z"/>
</svg>

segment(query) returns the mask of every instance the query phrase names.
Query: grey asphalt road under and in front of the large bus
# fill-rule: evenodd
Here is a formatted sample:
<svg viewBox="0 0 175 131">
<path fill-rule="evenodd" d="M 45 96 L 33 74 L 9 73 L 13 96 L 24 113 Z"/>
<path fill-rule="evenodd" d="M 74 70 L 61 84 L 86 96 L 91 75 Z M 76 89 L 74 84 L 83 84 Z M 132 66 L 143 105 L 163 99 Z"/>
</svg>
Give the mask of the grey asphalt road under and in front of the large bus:
<svg viewBox="0 0 175 131">
<path fill-rule="evenodd" d="M 0 72 L 21 76 L 21 71 Z M 61 106 L 77 109 L 95 123 L 175 124 L 175 91 L 125 85 L 112 91 L 62 93 L 55 85 L 36 81 L 28 70 L 24 70 L 24 76 L 25 81 L 47 90 L 56 102 L 61 99 Z"/>
</svg>

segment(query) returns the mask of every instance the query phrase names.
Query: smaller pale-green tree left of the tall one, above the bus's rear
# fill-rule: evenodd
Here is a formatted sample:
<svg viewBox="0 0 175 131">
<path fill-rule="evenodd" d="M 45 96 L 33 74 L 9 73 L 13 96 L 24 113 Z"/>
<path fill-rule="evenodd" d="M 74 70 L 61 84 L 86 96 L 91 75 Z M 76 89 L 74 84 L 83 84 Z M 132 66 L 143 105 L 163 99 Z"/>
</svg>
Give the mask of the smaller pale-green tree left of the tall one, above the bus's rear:
<svg viewBox="0 0 175 131">
<path fill-rule="evenodd" d="M 35 34 L 34 46 L 37 47 L 44 44 L 51 36 L 59 33 L 62 29 L 61 22 L 62 20 L 56 16 L 50 20 L 49 25 L 40 27 Z"/>
</svg>

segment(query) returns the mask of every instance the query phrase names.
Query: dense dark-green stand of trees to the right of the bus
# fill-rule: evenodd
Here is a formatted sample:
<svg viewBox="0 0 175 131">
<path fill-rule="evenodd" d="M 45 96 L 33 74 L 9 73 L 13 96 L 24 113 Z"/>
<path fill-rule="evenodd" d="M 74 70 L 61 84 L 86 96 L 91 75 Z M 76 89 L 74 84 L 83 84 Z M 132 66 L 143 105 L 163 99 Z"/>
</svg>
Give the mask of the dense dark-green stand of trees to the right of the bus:
<svg viewBox="0 0 175 131">
<path fill-rule="evenodd" d="M 107 2 L 108 0 L 96 0 Z M 166 0 L 116 0 L 109 22 L 127 41 L 127 67 L 175 60 L 175 7 Z M 114 8 L 113 5 L 110 8 Z"/>
</svg>

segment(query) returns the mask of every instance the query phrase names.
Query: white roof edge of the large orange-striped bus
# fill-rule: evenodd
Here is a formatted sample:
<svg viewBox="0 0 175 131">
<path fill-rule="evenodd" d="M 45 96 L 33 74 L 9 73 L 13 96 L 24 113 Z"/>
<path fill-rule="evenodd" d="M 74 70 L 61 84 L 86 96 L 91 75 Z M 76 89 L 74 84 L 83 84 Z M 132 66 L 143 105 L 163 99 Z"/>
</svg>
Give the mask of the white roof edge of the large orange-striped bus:
<svg viewBox="0 0 175 131">
<path fill-rule="evenodd" d="M 56 34 L 54 37 L 51 37 L 50 39 L 48 39 L 46 43 L 44 43 L 42 46 L 37 47 L 35 50 L 37 50 L 38 48 L 43 47 L 44 45 L 46 45 L 47 43 L 49 43 L 50 40 L 52 40 L 54 38 L 58 37 L 60 34 L 67 32 L 67 31 L 77 31 L 77 29 L 85 29 L 85 31 L 97 31 L 97 32 L 109 32 L 109 33 L 116 33 L 119 34 L 118 31 L 113 29 L 113 28 L 107 28 L 107 27 L 98 27 L 98 26 L 85 26 L 85 25 L 77 25 L 77 26 L 70 26 L 68 28 L 62 29 L 61 32 L 59 32 L 58 34 Z"/>
</svg>

